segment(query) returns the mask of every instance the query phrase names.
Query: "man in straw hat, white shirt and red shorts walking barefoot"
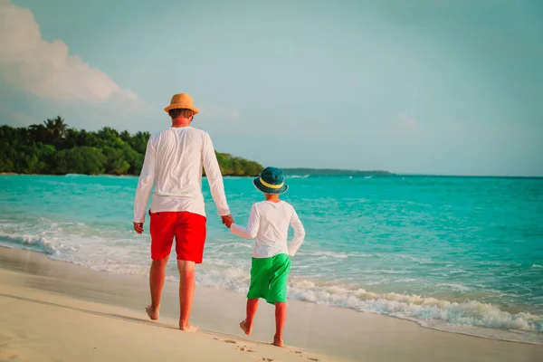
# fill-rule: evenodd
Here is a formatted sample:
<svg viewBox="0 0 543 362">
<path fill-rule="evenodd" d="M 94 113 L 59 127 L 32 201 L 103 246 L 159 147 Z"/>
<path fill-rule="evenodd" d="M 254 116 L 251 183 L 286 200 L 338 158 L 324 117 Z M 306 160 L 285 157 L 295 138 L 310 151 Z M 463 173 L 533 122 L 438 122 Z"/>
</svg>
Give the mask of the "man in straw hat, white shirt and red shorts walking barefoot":
<svg viewBox="0 0 543 362">
<path fill-rule="evenodd" d="M 202 262 L 205 244 L 205 209 L 202 167 L 223 224 L 233 221 L 224 195 L 223 176 L 207 132 L 190 126 L 198 110 L 188 94 L 176 94 L 164 110 L 172 127 L 148 140 L 134 201 L 134 230 L 143 233 L 143 223 L 153 184 L 151 217 L 150 319 L 157 320 L 167 260 L 176 238 L 179 270 L 179 329 L 198 330 L 189 323 L 195 293 L 195 264 Z"/>
</svg>

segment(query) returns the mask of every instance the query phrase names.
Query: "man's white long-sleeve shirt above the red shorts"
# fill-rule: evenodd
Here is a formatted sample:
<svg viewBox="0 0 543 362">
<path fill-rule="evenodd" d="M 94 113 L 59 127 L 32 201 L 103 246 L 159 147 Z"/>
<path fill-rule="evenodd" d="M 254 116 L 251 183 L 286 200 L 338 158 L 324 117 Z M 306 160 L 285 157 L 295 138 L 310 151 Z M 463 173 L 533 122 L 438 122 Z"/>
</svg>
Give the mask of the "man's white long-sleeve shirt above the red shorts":
<svg viewBox="0 0 543 362">
<path fill-rule="evenodd" d="M 223 176 L 209 134 L 192 127 L 172 127 L 152 135 L 139 175 L 134 222 L 145 220 L 153 184 L 151 212 L 188 211 L 205 216 L 202 167 L 219 214 L 230 214 Z"/>
</svg>

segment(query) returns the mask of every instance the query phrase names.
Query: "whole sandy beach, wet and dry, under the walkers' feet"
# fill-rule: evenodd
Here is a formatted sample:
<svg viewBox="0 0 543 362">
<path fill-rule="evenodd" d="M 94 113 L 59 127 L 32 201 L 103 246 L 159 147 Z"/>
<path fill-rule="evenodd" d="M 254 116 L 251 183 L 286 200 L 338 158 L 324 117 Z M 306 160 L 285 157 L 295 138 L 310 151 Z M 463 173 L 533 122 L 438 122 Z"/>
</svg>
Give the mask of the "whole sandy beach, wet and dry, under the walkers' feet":
<svg viewBox="0 0 543 362">
<path fill-rule="evenodd" d="M 414 322 L 292 300 L 286 348 L 269 344 L 271 306 L 253 335 L 237 327 L 244 296 L 197 288 L 193 322 L 176 329 L 176 283 L 147 319 L 148 281 L 0 248 L 0 361 L 540 361 L 543 346 L 424 329 Z"/>
</svg>

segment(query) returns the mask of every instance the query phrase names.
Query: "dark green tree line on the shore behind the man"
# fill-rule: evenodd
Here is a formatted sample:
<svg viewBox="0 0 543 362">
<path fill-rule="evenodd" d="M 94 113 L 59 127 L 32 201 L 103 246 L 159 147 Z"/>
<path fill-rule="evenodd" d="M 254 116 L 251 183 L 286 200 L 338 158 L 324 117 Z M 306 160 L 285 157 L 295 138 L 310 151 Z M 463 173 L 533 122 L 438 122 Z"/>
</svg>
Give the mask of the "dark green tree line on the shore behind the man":
<svg viewBox="0 0 543 362">
<path fill-rule="evenodd" d="M 28 128 L 1 126 L 0 172 L 138 176 L 149 137 L 149 132 L 130 134 L 109 127 L 73 129 L 60 116 Z M 257 176 L 262 171 L 257 162 L 215 153 L 224 176 Z"/>
</svg>

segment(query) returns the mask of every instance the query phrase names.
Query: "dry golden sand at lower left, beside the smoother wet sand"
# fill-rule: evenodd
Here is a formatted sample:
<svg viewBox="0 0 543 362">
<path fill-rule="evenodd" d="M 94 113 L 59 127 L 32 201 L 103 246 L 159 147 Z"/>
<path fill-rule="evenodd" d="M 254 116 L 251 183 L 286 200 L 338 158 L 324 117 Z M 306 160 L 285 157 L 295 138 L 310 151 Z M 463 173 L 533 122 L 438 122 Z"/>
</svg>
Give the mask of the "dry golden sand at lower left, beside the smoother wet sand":
<svg viewBox="0 0 543 362">
<path fill-rule="evenodd" d="M 135 310 L 14 286 L 13 277 L 0 271 L 2 361 L 300 361 L 289 348 L 183 333 L 175 319 L 151 322 Z"/>
</svg>

